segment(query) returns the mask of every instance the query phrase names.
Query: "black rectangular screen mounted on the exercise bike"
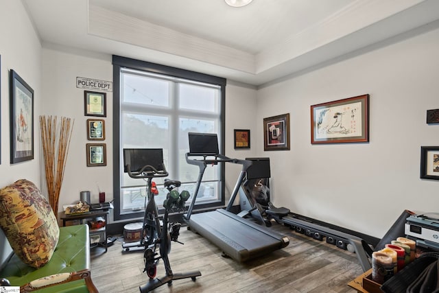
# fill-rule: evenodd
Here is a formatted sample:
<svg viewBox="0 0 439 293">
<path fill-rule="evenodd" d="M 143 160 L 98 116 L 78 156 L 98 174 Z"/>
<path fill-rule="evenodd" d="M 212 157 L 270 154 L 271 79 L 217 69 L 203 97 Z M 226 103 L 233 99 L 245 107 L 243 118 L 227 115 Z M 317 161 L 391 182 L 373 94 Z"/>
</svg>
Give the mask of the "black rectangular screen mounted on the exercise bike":
<svg viewBox="0 0 439 293">
<path fill-rule="evenodd" d="M 151 165 L 157 171 L 163 171 L 163 149 L 161 148 L 124 148 L 123 172 L 139 172 L 146 165 Z"/>
</svg>

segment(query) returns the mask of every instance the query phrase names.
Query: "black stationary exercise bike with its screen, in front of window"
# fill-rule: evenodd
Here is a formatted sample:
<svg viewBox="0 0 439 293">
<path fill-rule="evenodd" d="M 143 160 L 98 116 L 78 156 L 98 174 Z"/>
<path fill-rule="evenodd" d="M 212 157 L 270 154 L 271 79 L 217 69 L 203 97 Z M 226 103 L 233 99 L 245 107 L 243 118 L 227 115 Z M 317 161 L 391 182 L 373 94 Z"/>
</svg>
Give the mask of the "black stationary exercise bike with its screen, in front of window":
<svg viewBox="0 0 439 293">
<path fill-rule="evenodd" d="M 201 272 L 198 270 L 186 273 L 173 273 L 171 270 L 168 254 L 171 252 L 171 241 L 178 242 L 181 224 L 178 222 L 169 223 L 169 212 L 184 211 L 185 203 L 189 199 L 190 194 L 188 191 L 182 191 L 181 193 L 176 191 L 175 188 L 180 187 L 181 185 L 180 181 L 165 179 L 164 186 L 168 190 L 168 193 L 163 202 L 165 214 L 162 218 L 162 226 L 161 218 L 158 215 L 157 204 L 154 199 L 154 196 L 158 194 L 158 190 L 156 189 L 156 185 L 152 181 L 152 178 L 165 177 L 168 175 L 168 172 L 163 164 L 163 159 L 161 159 L 163 158 L 163 153 L 161 151 L 157 152 L 157 150 L 161 149 L 153 150 L 156 152 L 154 155 L 148 154 L 149 149 L 142 149 L 141 151 L 144 153 L 142 159 L 145 160 L 145 158 L 150 158 L 153 161 L 161 161 L 161 163 L 158 164 L 160 166 L 159 169 L 156 169 L 153 165 L 144 165 L 140 169 L 132 171 L 130 164 L 128 163 L 128 165 L 126 165 L 128 176 L 131 178 L 146 178 L 147 180 L 147 204 L 145 206 L 141 244 L 145 246 L 145 252 L 143 254 L 145 268 L 143 272 L 146 272 L 150 281 L 139 287 L 142 293 L 150 292 L 150 290 L 154 290 L 154 288 L 158 288 L 165 283 L 171 285 L 173 280 L 191 278 L 192 281 L 195 281 L 196 277 L 201 276 Z M 137 150 L 137 152 L 139 151 L 140 150 Z M 160 154 L 160 158 L 156 156 L 157 154 Z M 125 154 L 125 150 L 124 156 L 126 156 L 128 161 L 134 159 L 132 157 L 127 158 L 128 156 L 132 156 L 132 154 Z M 154 165 L 157 166 L 157 164 Z M 156 252 L 157 248 L 159 254 Z M 164 277 L 155 278 L 158 261 L 160 259 L 163 259 L 166 274 Z"/>
</svg>

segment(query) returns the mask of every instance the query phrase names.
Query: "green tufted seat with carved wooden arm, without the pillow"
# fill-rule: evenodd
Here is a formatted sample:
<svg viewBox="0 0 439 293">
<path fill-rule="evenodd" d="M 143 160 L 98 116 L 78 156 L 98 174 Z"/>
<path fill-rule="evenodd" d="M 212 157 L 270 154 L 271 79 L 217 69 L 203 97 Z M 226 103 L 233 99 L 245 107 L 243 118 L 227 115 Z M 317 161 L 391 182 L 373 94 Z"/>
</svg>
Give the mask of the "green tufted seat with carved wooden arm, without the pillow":
<svg viewBox="0 0 439 293">
<path fill-rule="evenodd" d="M 38 292 L 40 286 L 45 293 L 98 292 L 91 280 L 88 226 L 60 227 L 54 254 L 41 268 L 32 268 L 13 254 L 0 278 L 8 279 L 12 286 L 21 286 L 21 292 Z"/>
</svg>

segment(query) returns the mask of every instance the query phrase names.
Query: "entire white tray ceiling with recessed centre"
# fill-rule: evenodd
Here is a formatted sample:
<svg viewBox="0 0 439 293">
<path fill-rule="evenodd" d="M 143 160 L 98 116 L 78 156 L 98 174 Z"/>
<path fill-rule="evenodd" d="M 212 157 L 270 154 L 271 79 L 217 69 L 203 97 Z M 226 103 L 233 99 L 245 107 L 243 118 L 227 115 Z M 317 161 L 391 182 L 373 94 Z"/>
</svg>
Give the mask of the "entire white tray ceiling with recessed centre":
<svg viewBox="0 0 439 293">
<path fill-rule="evenodd" d="M 259 86 L 439 19 L 437 0 L 22 0 L 44 47 Z"/>
</svg>

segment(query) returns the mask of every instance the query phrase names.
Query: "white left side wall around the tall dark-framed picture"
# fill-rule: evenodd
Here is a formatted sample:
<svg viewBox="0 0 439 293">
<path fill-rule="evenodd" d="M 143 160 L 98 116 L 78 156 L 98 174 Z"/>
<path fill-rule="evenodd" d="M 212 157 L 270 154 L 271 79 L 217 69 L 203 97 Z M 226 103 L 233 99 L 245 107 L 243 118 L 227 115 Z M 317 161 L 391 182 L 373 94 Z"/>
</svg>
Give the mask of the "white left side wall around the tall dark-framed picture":
<svg viewBox="0 0 439 293">
<path fill-rule="evenodd" d="M 1 73 L 1 165 L 0 187 L 27 178 L 38 185 L 40 180 L 38 125 L 34 124 L 34 156 L 32 161 L 10 164 L 9 72 L 14 69 L 34 89 L 34 111 L 41 108 L 41 46 L 21 1 L 0 1 L 0 73 Z M 0 230 L 0 263 L 10 252 Z"/>
</svg>

